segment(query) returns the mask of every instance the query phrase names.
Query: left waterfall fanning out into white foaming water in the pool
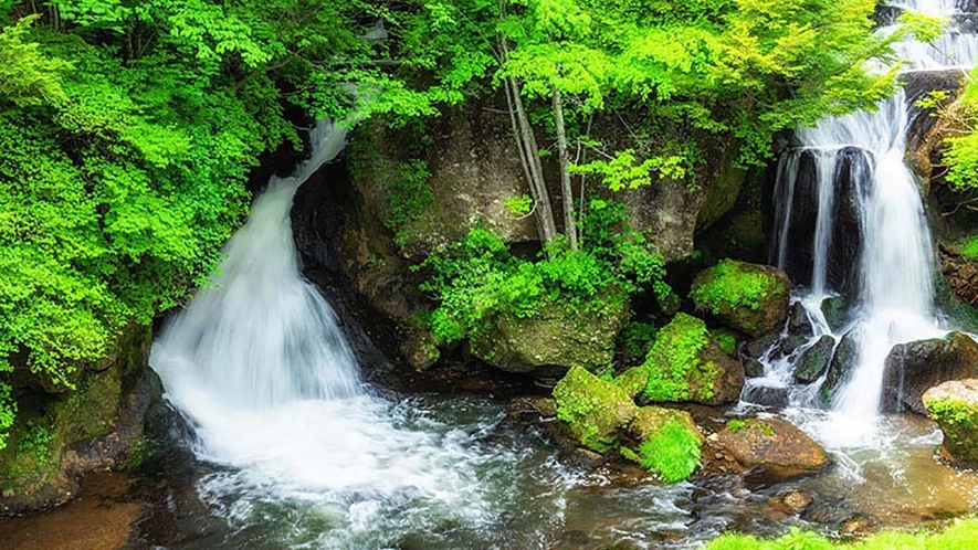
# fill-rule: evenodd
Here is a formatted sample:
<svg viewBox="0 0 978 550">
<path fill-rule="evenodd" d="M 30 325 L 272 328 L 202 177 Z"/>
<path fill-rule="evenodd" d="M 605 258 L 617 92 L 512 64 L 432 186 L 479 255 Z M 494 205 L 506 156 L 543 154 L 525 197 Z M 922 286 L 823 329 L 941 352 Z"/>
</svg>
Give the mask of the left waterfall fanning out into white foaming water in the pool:
<svg viewBox="0 0 978 550">
<path fill-rule="evenodd" d="M 269 503 L 286 516 L 296 514 L 287 503 L 304 503 L 301 514 L 329 528 L 281 538 L 315 548 L 378 548 L 440 522 L 492 525 L 508 500 L 488 498 L 499 488 L 484 477 L 520 459 L 518 449 L 480 447 L 497 413 L 462 430 L 371 394 L 333 310 L 299 272 L 292 199 L 345 135 L 332 125 L 314 131 L 313 159 L 270 182 L 212 283 L 154 342 L 150 363 L 193 426 L 196 454 L 232 468 L 201 479 L 199 493 L 243 523 L 269 521 L 257 511 Z M 566 488 L 554 465 L 536 474 Z"/>
</svg>

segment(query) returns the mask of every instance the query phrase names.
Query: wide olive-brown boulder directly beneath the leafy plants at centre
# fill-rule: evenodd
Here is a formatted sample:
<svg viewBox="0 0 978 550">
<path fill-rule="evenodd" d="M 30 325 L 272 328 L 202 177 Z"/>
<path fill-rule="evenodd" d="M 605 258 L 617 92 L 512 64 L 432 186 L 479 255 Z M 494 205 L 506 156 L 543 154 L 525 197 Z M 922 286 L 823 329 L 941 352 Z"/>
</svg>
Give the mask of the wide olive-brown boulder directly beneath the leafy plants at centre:
<svg viewBox="0 0 978 550">
<path fill-rule="evenodd" d="M 506 372 L 561 376 L 571 366 L 597 370 L 614 359 L 616 337 L 628 316 L 628 295 L 609 288 L 590 303 L 550 302 L 532 317 L 502 313 L 470 336 L 470 350 Z"/>
</svg>

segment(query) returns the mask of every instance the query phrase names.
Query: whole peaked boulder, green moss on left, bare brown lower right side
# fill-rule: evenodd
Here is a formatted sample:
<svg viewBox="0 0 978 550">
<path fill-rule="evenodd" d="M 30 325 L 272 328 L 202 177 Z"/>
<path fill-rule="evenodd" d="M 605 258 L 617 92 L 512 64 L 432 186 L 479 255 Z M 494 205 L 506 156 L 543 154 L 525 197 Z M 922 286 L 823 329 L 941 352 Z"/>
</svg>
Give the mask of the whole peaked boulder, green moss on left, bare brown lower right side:
<svg viewBox="0 0 978 550">
<path fill-rule="evenodd" d="M 679 314 L 655 335 L 642 367 L 649 380 L 641 398 L 650 402 L 736 402 L 744 367 L 713 339 L 706 324 Z"/>
</svg>

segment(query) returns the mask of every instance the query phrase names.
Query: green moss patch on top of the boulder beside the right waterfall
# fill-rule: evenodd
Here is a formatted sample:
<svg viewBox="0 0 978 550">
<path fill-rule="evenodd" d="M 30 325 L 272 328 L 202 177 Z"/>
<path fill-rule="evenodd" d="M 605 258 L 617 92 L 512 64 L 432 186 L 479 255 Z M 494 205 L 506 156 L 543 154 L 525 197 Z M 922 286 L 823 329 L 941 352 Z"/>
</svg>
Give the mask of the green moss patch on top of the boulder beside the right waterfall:
<svg viewBox="0 0 978 550">
<path fill-rule="evenodd" d="M 690 297 L 718 315 L 724 308 L 757 310 L 769 293 L 779 289 L 780 284 L 770 274 L 745 271 L 739 262 L 722 260 L 708 272 L 708 276 L 694 283 Z"/>
</svg>

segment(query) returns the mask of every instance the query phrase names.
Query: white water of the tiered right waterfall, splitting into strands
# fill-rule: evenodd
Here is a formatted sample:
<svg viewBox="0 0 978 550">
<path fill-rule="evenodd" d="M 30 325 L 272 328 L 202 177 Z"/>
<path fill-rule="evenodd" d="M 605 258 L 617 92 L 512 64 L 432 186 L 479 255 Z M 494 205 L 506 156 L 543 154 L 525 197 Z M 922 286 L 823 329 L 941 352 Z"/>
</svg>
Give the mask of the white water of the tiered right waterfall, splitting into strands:
<svg viewBox="0 0 978 550">
<path fill-rule="evenodd" d="M 954 15 L 953 1 L 904 2 L 900 7 L 928 14 Z M 890 32 L 887 29 L 881 32 Z M 897 44 L 903 60 L 902 71 L 919 72 L 969 67 L 978 54 L 978 38 L 960 32 L 949 24 L 934 45 L 913 40 Z M 831 448 L 865 447 L 879 443 L 877 411 L 882 394 L 885 358 L 900 342 L 938 337 L 945 331 L 938 326 L 933 303 L 934 257 L 930 233 L 914 176 L 904 162 L 909 126 L 907 98 L 901 89 L 882 102 L 874 113 L 860 112 L 843 117 L 825 118 L 814 128 L 797 133 L 801 147 L 787 154 L 779 166 L 778 193 L 787 204 L 779 204 L 778 248 L 775 260 L 785 267 L 790 251 L 788 234 L 792 220 L 790 201 L 799 191 L 798 170 L 802 155 L 811 155 L 814 181 L 818 186 L 818 214 L 812 236 L 811 285 L 798 297 L 807 309 L 814 338 L 831 335 L 837 342 L 851 330 L 856 346 L 855 364 L 831 404 L 832 412 L 808 420 L 809 431 Z M 852 197 L 859 204 L 862 247 L 859 258 L 858 292 L 851 305 L 851 321 L 833 332 L 822 316 L 822 300 L 842 288 L 827 284 L 832 243 L 834 182 L 840 177 L 841 155 L 861 151 L 869 167 L 867 173 L 853 172 Z M 838 210 L 835 210 L 838 212 Z M 769 361 L 766 377 L 755 383 L 790 385 L 793 360 L 791 357 Z M 792 404 L 811 406 L 817 400 L 818 385 L 792 391 Z M 805 423 L 805 422 L 802 422 Z"/>
</svg>

